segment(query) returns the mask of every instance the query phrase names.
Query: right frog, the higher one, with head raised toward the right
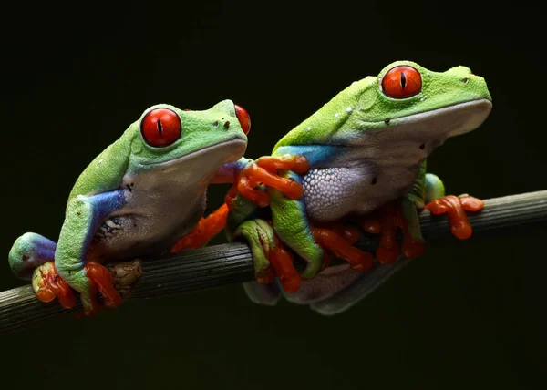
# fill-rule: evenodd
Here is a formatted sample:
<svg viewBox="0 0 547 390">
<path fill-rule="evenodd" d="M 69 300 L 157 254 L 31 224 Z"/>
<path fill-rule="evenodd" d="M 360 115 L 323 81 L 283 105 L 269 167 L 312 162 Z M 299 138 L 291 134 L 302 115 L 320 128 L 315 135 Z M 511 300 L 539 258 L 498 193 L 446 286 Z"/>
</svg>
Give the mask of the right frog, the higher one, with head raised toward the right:
<svg viewBox="0 0 547 390">
<path fill-rule="evenodd" d="M 445 139 L 480 127 L 491 107 L 485 80 L 468 67 L 434 72 L 397 61 L 346 87 L 289 131 L 275 145 L 274 159 L 243 169 L 246 179 L 232 202 L 232 237 L 249 242 L 260 282 L 245 284 L 253 301 L 273 304 L 283 290 L 289 301 L 320 313 L 346 310 L 384 277 L 367 276 L 377 262 L 423 252 L 418 211 L 424 208 L 448 212 L 454 235 L 469 238 L 466 210 L 478 211 L 483 202 L 445 196 L 442 181 L 426 173 L 426 159 Z M 303 192 L 279 192 L 281 178 L 268 180 L 278 171 Z M 256 210 L 241 195 L 269 204 L 270 214 L 253 219 Z M 376 256 L 352 245 L 358 231 L 351 223 L 381 234 Z M 307 264 L 300 274 L 292 251 Z M 325 268 L 333 255 L 346 263 Z"/>
</svg>

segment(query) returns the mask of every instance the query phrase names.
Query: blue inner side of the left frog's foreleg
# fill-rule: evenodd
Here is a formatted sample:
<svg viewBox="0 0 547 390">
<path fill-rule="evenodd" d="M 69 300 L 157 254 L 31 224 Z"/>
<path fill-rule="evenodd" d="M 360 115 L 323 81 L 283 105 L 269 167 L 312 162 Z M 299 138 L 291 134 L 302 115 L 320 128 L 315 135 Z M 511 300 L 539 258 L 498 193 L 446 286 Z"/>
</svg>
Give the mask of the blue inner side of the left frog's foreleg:
<svg viewBox="0 0 547 390">
<path fill-rule="evenodd" d="M 95 236 L 98 226 L 105 221 L 108 215 L 113 211 L 121 209 L 126 204 L 123 190 L 102 192 L 88 197 L 88 201 L 91 203 L 91 212 L 93 214 L 89 221 L 88 231 L 82 242 L 82 259 L 88 252 L 89 244 L 93 240 L 93 236 Z M 85 261 L 82 261 L 82 264 L 84 262 Z"/>
</svg>

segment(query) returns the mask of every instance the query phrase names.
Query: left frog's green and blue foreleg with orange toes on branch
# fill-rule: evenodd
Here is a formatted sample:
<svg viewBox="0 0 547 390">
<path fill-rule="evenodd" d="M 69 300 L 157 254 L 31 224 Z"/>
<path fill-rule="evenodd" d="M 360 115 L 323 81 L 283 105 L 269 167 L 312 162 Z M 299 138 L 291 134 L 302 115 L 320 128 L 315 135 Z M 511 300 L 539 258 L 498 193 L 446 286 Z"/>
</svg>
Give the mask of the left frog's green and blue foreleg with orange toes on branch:
<svg viewBox="0 0 547 390">
<path fill-rule="evenodd" d="M 33 276 L 38 280 L 38 296 L 41 289 L 47 289 L 60 277 L 80 292 L 86 314 L 98 311 L 97 292 L 103 296 L 105 306 L 116 307 L 121 303 L 108 270 L 97 262 L 86 262 L 86 255 L 98 226 L 123 203 L 122 190 L 93 196 L 78 195 L 70 200 L 57 243 L 55 266 L 46 263 L 38 267 Z"/>
</svg>

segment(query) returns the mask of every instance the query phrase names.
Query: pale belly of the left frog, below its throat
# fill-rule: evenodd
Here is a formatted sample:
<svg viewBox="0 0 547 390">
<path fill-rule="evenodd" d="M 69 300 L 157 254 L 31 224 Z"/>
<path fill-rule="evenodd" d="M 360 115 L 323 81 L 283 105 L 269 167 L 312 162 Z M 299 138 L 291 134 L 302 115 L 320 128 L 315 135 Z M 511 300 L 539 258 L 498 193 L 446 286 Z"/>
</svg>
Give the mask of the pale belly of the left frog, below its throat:
<svg viewBox="0 0 547 390">
<path fill-rule="evenodd" d="M 127 203 L 99 226 L 89 255 L 105 261 L 161 253 L 191 231 L 205 211 L 205 187 L 189 186 L 181 173 L 126 177 Z"/>
</svg>

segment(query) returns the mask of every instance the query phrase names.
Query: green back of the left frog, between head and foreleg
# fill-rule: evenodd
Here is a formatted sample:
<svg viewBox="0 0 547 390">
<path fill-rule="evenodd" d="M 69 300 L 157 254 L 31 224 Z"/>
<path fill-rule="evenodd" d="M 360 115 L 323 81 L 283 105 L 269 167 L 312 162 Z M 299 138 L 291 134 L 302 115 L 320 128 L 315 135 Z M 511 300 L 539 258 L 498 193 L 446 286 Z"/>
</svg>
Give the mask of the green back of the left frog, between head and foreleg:
<svg viewBox="0 0 547 390">
<path fill-rule="evenodd" d="M 92 195 L 115 190 L 128 170 L 134 131 L 128 128 L 114 143 L 104 149 L 77 178 L 67 203 L 77 195 Z"/>
</svg>

